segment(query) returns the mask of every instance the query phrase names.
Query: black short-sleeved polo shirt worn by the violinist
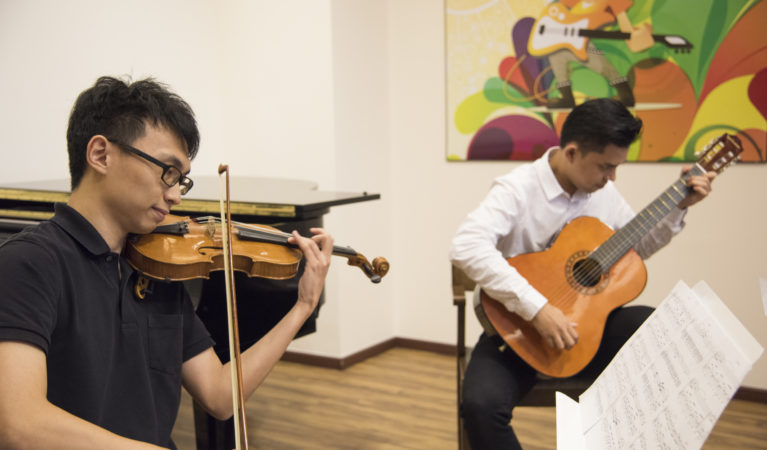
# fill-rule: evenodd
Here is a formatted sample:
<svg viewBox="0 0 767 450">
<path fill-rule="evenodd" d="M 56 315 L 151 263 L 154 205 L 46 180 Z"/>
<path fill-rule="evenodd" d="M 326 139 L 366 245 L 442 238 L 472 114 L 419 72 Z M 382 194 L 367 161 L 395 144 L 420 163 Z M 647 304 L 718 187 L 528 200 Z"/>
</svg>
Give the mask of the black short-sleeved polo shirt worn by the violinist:
<svg viewBox="0 0 767 450">
<path fill-rule="evenodd" d="M 74 209 L 0 245 L 0 340 L 40 347 L 48 400 L 119 435 L 174 447 L 181 364 L 212 345 L 181 283 L 152 283 Z M 1 381 L 0 381 L 1 382 Z"/>
</svg>

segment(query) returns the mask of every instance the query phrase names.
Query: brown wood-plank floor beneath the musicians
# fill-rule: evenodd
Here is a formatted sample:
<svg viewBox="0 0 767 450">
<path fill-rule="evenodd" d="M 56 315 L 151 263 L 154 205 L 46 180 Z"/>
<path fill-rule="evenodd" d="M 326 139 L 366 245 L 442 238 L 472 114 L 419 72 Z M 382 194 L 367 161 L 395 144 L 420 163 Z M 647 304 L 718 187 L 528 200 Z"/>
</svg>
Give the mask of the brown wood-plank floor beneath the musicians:
<svg viewBox="0 0 767 450">
<path fill-rule="evenodd" d="M 455 359 L 394 348 L 346 370 L 280 362 L 247 403 L 251 448 L 454 449 Z M 556 447 L 554 408 L 518 408 L 525 449 Z M 191 400 L 173 438 L 194 450 Z M 704 449 L 767 449 L 767 404 L 733 400 Z"/>
</svg>

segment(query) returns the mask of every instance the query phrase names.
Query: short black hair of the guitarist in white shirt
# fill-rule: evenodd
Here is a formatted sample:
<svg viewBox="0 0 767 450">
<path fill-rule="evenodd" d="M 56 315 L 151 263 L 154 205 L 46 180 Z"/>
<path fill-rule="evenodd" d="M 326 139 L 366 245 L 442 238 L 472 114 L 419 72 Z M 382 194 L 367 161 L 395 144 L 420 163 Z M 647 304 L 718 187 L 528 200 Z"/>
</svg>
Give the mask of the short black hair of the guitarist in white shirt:
<svg viewBox="0 0 767 450">
<path fill-rule="evenodd" d="M 608 144 L 628 147 L 642 130 L 642 119 L 634 117 L 619 101 L 588 100 L 576 106 L 562 125 L 560 147 L 576 143 L 581 154 L 602 153 Z"/>
</svg>

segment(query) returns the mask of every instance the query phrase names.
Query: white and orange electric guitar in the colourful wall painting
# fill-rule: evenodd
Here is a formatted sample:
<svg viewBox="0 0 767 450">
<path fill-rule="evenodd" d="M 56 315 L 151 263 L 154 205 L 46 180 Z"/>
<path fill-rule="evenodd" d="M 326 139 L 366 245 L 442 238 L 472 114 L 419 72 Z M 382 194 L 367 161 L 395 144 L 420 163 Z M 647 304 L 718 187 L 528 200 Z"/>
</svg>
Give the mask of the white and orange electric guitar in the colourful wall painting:
<svg viewBox="0 0 767 450">
<path fill-rule="evenodd" d="M 574 14 L 559 3 L 549 5 L 533 25 L 527 51 L 533 56 L 545 56 L 559 49 L 569 49 L 580 60 L 586 60 L 586 43 L 589 38 L 621 39 L 631 37 L 621 31 L 589 29 L 589 15 Z M 655 43 L 675 51 L 688 52 L 692 44 L 682 36 L 653 34 Z"/>
</svg>

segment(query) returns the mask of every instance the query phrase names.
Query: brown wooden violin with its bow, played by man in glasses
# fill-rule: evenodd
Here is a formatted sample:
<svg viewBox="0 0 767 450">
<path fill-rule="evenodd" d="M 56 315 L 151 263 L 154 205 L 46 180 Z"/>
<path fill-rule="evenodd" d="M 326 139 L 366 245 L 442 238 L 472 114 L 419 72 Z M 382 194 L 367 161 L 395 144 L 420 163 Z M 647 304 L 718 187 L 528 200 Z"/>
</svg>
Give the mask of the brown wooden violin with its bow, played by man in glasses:
<svg viewBox="0 0 767 450">
<path fill-rule="evenodd" d="M 136 295 L 144 298 L 144 290 L 154 278 L 161 281 L 184 281 L 210 278 L 210 272 L 224 270 L 226 275 L 227 325 L 229 361 L 232 376 L 235 447 L 248 449 L 245 425 L 242 362 L 240 358 L 237 301 L 234 290 L 235 270 L 250 277 L 275 280 L 293 278 L 303 253 L 288 242 L 289 233 L 267 225 L 245 224 L 231 220 L 229 207 L 229 169 L 219 166 L 219 176 L 226 174 L 222 192 L 221 218 L 180 217 L 168 215 L 151 233 L 132 236 L 125 246 L 128 262 L 140 272 Z M 224 201 L 224 198 L 226 201 Z M 223 226 L 222 226 L 223 224 Z M 373 283 L 379 283 L 389 271 L 382 257 L 368 262 L 350 247 L 333 246 L 334 255 L 348 258 L 349 265 L 359 267 Z"/>
</svg>

